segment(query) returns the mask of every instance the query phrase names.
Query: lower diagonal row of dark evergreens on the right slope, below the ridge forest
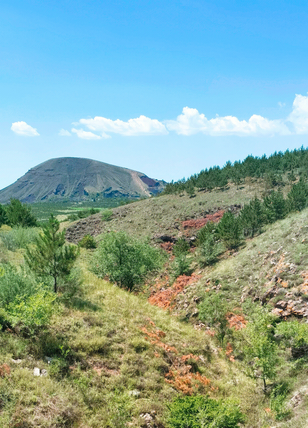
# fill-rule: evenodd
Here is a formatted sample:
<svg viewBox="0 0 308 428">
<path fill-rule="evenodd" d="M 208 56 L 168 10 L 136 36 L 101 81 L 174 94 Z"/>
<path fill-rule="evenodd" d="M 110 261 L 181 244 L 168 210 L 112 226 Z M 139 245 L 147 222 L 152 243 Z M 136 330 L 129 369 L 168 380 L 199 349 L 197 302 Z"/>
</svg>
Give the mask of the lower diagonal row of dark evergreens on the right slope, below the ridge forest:
<svg viewBox="0 0 308 428">
<path fill-rule="evenodd" d="M 236 216 L 225 212 L 219 223 L 207 223 L 198 233 L 198 243 L 204 263 L 208 264 L 222 252 L 221 243 L 236 248 L 242 238 L 254 236 L 262 226 L 283 219 L 289 212 L 302 210 L 308 205 L 308 184 L 300 179 L 287 197 L 281 190 L 272 190 L 263 201 L 255 197 L 245 203 Z"/>
</svg>

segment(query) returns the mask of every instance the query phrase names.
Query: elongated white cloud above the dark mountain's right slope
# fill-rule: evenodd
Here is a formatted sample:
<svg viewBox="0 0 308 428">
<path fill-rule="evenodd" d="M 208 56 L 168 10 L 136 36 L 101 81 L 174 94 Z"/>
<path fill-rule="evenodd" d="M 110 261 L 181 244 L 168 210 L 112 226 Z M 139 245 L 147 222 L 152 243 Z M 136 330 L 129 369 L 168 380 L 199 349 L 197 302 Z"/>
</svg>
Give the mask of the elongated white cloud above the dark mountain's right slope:
<svg viewBox="0 0 308 428">
<path fill-rule="evenodd" d="M 157 119 L 150 119 L 140 116 L 136 119 L 123 120 L 107 119 L 95 116 L 94 119 L 80 119 L 81 125 L 86 125 L 88 129 L 96 132 L 114 132 L 120 135 L 164 135 L 168 134 L 165 125 Z"/>
</svg>

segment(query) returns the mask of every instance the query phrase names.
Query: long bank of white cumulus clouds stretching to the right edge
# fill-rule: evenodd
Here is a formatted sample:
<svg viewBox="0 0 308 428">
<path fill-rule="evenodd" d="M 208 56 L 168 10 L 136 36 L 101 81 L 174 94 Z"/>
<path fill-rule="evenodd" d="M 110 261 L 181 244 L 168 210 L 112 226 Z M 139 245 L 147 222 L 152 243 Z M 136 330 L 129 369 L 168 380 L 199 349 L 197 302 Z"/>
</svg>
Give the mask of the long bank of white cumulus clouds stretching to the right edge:
<svg viewBox="0 0 308 428">
<path fill-rule="evenodd" d="M 278 102 L 279 107 L 285 103 Z M 110 133 L 124 136 L 132 135 L 166 135 L 176 132 L 180 135 L 237 135 L 237 136 L 272 136 L 290 134 L 308 134 L 308 96 L 296 95 L 293 101 L 292 112 L 286 118 L 267 119 L 253 114 L 249 119 L 240 120 L 235 116 L 218 116 L 207 119 L 197 109 L 184 107 L 182 113 L 175 120 L 160 122 L 146 116 L 136 119 L 123 120 L 107 119 L 95 116 L 94 119 L 80 119 L 73 125 L 83 125 L 89 131 L 72 129 L 78 137 L 84 139 L 110 138 Z M 61 130 L 64 131 L 64 130 Z M 93 132 L 96 134 L 94 134 Z M 64 131 L 67 132 L 67 131 Z M 99 134 L 99 135 L 98 135 Z M 68 134 L 65 134 L 68 135 Z"/>
</svg>

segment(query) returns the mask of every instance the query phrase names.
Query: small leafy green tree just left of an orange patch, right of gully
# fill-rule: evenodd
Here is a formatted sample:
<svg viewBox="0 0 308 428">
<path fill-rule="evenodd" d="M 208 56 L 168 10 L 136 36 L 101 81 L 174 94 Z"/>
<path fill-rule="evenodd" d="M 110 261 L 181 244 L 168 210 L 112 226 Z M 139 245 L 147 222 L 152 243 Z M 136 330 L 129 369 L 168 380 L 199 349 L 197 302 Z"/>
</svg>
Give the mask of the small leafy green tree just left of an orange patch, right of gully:
<svg viewBox="0 0 308 428">
<path fill-rule="evenodd" d="M 222 299 L 220 294 L 207 294 L 203 302 L 199 305 L 199 318 L 207 323 L 209 327 L 217 329 L 217 338 L 220 345 L 223 345 L 224 338 L 228 333 L 228 303 Z"/>
</svg>

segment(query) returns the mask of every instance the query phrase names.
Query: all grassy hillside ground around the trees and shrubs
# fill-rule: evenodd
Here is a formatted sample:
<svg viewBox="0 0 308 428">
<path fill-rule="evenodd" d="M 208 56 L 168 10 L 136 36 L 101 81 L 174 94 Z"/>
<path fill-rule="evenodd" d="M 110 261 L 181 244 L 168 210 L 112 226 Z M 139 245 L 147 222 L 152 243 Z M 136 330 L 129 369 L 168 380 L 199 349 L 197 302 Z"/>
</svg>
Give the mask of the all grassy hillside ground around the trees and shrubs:
<svg viewBox="0 0 308 428">
<path fill-rule="evenodd" d="M 182 221 L 234 209 L 255 195 L 261 193 L 258 188 L 249 190 L 248 184 L 238 190 L 229 184 L 226 190 L 199 192 L 193 198 L 163 195 L 113 208 L 110 221 L 95 214 L 72 223 L 68 232 L 73 238 L 108 230 L 124 230 L 137 238 L 186 236 L 195 231 Z M 198 394 L 238 404 L 246 417 L 240 426 L 246 428 L 307 426 L 307 355 L 292 357 L 290 348 L 295 345 L 281 334 L 281 326 L 290 321 L 307 330 L 307 214 L 308 209 L 290 213 L 264 226 L 237 249 L 222 252 L 212 265 L 202 266 L 200 249 L 193 248 L 187 254 L 191 276 L 175 279 L 172 246 L 166 246 L 165 265 L 146 278 L 139 294 L 95 276 L 90 271 L 94 250 L 80 249 L 68 280 L 77 291 L 65 294 L 60 283 L 47 326 L 34 333 L 22 323 L 9 326 L 0 308 L 2 426 L 169 428 L 170 402 Z M 28 282 L 41 286 L 33 274 L 20 270 L 26 246 L 21 237 L 27 234 L 30 241 L 37 233 L 2 227 L 0 291 L 9 264 L 20 272 L 18 280 L 29 276 Z M 160 242 L 151 241 L 156 247 Z M 49 287 L 48 281 L 44 287 Z M 219 324 L 207 325 L 202 314 L 204 302 L 216 297 L 228 304 L 222 344 Z M 281 315 L 281 301 L 290 313 Z M 258 359 L 249 358 L 247 350 L 249 329 L 261 303 L 267 308 L 264 319 L 270 320 L 262 328 L 276 352 L 265 392 L 258 370 L 250 370 Z"/>
</svg>

